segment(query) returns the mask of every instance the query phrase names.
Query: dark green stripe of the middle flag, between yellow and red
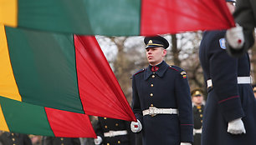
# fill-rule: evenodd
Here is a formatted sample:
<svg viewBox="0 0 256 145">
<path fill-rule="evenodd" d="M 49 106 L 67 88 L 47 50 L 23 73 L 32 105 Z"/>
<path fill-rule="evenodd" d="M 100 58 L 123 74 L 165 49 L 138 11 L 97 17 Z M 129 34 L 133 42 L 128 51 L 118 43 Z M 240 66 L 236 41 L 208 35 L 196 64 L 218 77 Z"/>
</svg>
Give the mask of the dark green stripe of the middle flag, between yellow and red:
<svg viewBox="0 0 256 145">
<path fill-rule="evenodd" d="M 73 35 L 6 27 L 13 74 L 23 102 L 84 113 Z"/>
</svg>

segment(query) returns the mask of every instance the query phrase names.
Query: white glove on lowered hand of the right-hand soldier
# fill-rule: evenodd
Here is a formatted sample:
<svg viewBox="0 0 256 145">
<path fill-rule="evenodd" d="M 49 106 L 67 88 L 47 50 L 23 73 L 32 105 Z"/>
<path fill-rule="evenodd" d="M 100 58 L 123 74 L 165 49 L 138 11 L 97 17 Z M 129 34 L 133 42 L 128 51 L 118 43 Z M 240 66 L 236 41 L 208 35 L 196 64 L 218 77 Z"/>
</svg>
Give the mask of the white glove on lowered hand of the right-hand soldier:
<svg viewBox="0 0 256 145">
<path fill-rule="evenodd" d="M 231 133 L 231 134 L 246 133 L 241 117 L 228 122 L 228 133 Z"/>
</svg>

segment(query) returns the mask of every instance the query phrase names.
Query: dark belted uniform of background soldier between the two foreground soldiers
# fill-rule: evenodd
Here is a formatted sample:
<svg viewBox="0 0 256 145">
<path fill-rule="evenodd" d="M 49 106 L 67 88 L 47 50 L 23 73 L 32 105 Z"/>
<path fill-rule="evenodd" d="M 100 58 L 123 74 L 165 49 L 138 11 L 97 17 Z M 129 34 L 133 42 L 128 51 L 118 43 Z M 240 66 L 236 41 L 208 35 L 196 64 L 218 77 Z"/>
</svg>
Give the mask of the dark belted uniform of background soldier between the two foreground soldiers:
<svg viewBox="0 0 256 145">
<path fill-rule="evenodd" d="M 201 134 L 202 131 L 202 113 L 203 113 L 204 105 L 194 106 L 193 107 L 193 119 L 194 119 L 194 142 L 192 145 L 200 145 L 201 144 Z"/>
</svg>

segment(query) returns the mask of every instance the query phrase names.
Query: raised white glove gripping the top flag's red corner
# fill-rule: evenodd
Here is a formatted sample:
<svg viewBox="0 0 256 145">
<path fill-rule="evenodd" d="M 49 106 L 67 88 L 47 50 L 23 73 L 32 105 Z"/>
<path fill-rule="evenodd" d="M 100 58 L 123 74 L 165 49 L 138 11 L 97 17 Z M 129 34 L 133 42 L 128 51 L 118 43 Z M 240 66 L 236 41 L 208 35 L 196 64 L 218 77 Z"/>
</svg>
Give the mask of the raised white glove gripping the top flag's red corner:
<svg viewBox="0 0 256 145">
<path fill-rule="evenodd" d="M 244 36 L 243 36 L 243 28 L 236 24 L 236 27 L 229 28 L 226 32 L 226 37 L 228 44 L 234 49 L 240 49 L 243 47 Z"/>
</svg>

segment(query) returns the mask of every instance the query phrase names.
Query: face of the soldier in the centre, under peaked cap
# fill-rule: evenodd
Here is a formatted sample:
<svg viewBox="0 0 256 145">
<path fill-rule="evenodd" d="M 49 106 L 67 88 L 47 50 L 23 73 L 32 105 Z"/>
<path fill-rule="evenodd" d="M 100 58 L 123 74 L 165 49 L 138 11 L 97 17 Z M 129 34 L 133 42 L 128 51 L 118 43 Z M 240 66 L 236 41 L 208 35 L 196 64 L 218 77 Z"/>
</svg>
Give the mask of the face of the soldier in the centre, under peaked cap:
<svg viewBox="0 0 256 145">
<path fill-rule="evenodd" d="M 146 58 L 151 65 L 156 65 L 166 56 L 166 49 L 163 47 L 149 47 L 146 49 Z"/>
</svg>

